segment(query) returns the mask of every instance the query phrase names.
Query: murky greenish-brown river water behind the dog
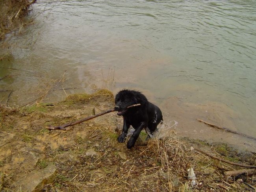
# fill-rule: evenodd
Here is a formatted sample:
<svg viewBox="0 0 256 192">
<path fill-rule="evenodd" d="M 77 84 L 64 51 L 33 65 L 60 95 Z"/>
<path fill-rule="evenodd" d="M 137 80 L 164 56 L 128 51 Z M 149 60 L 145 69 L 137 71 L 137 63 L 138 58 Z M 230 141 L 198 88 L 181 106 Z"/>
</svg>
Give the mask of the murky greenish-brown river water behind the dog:
<svg viewBox="0 0 256 192">
<path fill-rule="evenodd" d="M 1 103 L 135 89 L 178 135 L 255 150 L 254 140 L 196 121 L 256 137 L 254 0 L 39 0 L 29 17 L 1 42 Z"/>
</svg>

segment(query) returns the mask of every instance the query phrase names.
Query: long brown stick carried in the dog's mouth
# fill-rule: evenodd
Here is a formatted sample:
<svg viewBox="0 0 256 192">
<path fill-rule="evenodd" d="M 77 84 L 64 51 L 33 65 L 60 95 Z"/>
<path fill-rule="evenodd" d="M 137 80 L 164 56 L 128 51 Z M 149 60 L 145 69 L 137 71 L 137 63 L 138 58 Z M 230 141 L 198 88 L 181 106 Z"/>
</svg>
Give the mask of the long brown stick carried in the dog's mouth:
<svg viewBox="0 0 256 192">
<path fill-rule="evenodd" d="M 127 107 L 127 109 L 130 108 L 130 107 L 136 107 L 136 106 L 139 106 L 139 105 L 141 105 L 141 104 L 130 105 L 130 106 Z M 98 114 L 95 114 L 95 115 L 92 115 L 92 116 L 89 116 L 89 117 L 86 117 L 86 118 L 82 118 L 80 120 L 64 124 L 62 126 L 49 126 L 46 129 L 49 129 L 49 130 L 52 130 L 52 129 L 66 130 L 65 127 L 74 126 L 76 124 L 82 123 L 84 121 L 91 120 L 91 119 L 93 119 L 95 117 L 102 116 L 104 114 L 107 114 L 107 113 L 110 113 L 110 112 L 113 112 L 113 111 L 116 111 L 116 110 L 115 109 L 109 109 L 108 111 L 104 111 L 102 113 L 98 113 Z"/>
</svg>

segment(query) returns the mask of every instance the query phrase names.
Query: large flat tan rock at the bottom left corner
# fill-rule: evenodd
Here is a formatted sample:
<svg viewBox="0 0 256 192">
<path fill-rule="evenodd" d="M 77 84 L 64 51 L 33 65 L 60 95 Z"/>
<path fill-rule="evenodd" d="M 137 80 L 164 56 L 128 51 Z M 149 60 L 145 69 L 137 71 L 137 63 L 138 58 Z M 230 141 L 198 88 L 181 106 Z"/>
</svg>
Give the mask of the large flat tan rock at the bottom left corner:
<svg viewBox="0 0 256 192">
<path fill-rule="evenodd" d="M 56 166 L 48 165 L 45 169 L 35 170 L 16 181 L 15 191 L 40 192 L 45 185 L 52 183 L 56 176 Z"/>
</svg>

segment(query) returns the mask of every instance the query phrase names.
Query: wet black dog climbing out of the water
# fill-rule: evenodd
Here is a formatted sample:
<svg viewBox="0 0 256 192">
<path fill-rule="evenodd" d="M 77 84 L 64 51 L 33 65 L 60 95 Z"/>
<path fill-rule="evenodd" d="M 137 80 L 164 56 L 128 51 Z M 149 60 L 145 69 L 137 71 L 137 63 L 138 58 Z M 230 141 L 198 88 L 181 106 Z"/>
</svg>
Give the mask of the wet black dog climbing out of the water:
<svg viewBox="0 0 256 192">
<path fill-rule="evenodd" d="M 136 107 L 128 108 L 130 105 L 141 104 Z M 147 98 L 141 92 L 135 90 L 121 90 L 115 96 L 115 110 L 119 116 L 123 116 L 124 125 L 122 133 L 118 137 L 118 142 L 124 142 L 130 126 L 134 127 L 135 131 L 127 143 L 127 148 L 134 147 L 134 144 L 139 137 L 139 133 L 146 129 L 148 137 L 156 130 L 158 124 L 163 120 L 162 112 L 156 105 L 148 102 Z M 147 130 L 148 128 L 148 130 Z"/>
</svg>

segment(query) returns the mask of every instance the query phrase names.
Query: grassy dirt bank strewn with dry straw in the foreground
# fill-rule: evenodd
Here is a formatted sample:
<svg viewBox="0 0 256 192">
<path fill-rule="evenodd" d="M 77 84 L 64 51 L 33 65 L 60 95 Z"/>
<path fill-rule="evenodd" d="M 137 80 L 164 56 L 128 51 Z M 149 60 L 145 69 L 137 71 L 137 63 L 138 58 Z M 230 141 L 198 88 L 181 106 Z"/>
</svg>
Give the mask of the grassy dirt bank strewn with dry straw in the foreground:
<svg viewBox="0 0 256 192">
<path fill-rule="evenodd" d="M 132 150 L 118 143 L 122 118 L 115 112 L 72 126 L 45 129 L 113 108 L 108 90 L 71 95 L 59 103 L 23 109 L 0 107 L 1 191 L 251 191 L 255 176 L 225 176 L 247 169 L 208 157 L 256 165 L 256 154 L 226 144 L 168 137 L 145 141 Z M 191 150 L 191 146 L 198 150 Z M 202 151 L 201 151 L 202 150 Z M 195 186 L 188 179 L 193 168 Z M 255 173 L 254 173 L 255 174 Z M 35 190 L 36 189 L 36 190 Z"/>
</svg>

